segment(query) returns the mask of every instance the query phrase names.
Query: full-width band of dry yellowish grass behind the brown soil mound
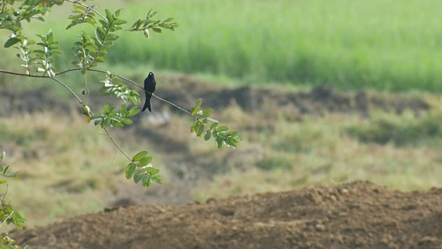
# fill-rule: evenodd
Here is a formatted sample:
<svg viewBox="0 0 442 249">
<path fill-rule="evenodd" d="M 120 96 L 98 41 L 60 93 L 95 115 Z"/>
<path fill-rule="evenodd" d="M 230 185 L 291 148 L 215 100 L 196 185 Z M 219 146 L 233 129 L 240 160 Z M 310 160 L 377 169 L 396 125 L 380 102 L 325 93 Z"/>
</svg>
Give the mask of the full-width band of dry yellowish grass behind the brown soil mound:
<svg viewBox="0 0 442 249">
<path fill-rule="evenodd" d="M 430 102 L 440 104 L 436 98 Z M 155 203 L 173 203 L 177 197 L 167 193 L 174 187 L 189 189 L 193 198 L 201 201 L 355 180 L 407 191 L 440 187 L 442 145 L 435 142 L 441 140 L 440 134 L 405 134 L 401 139 L 412 141 L 400 146 L 394 140 L 363 142 L 348 133 L 349 127 L 385 133 L 376 126 L 379 116 L 393 124 L 393 131 L 403 130 L 405 121 L 414 129 L 424 129 L 426 124 L 437 124 L 440 113 L 440 109 L 421 116 L 380 112 L 371 118 L 330 113 L 297 121 L 270 103 L 256 113 L 233 104 L 215 110 L 213 118 L 241 131 L 244 142 L 236 150 L 217 149 L 214 142 L 195 138 L 189 133 L 188 117 L 173 114 L 170 124 L 155 128 L 140 120 L 143 124 L 135 133 L 125 130 L 117 137 L 122 145 L 130 145 L 124 146 L 130 155 L 141 149 L 154 150 L 154 163 L 162 169 L 165 184 L 148 192 L 126 181 L 126 158 L 102 131 L 85 124 L 77 114 L 46 112 L 0 118 L 0 150 L 7 151 L 8 165 L 21 171 L 21 178 L 10 181 L 7 197 L 29 219 L 28 225 L 44 225 L 102 210 L 115 196 L 146 199 L 150 194 L 157 196 Z M 154 130 L 156 136 L 151 139 L 142 133 L 147 129 Z M 179 184 L 171 174 L 177 174 L 176 168 L 169 171 L 171 165 L 182 169 Z"/>
</svg>

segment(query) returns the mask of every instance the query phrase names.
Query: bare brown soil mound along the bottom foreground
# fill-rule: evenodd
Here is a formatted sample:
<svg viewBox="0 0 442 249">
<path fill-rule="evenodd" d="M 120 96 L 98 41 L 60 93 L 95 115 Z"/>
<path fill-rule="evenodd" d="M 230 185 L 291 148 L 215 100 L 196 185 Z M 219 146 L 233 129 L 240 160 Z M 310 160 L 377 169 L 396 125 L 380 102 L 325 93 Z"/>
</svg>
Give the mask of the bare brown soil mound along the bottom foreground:
<svg viewBox="0 0 442 249">
<path fill-rule="evenodd" d="M 442 248 L 442 190 L 334 187 L 142 205 L 12 234 L 32 248 Z"/>
</svg>

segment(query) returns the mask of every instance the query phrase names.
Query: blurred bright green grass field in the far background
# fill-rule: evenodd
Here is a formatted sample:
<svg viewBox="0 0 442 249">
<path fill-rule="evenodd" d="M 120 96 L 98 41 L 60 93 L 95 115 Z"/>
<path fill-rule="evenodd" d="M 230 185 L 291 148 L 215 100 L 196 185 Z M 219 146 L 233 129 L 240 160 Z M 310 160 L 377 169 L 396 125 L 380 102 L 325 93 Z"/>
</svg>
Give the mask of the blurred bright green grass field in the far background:
<svg viewBox="0 0 442 249">
<path fill-rule="evenodd" d="M 107 1 L 91 2 L 104 8 Z M 122 71 L 169 70 L 227 75 L 245 84 L 329 84 L 340 90 L 442 91 L 437 0 L 113 1 L 130 23 L 153 8 L 175 17 L 175 32 L 122 34 L 108 62 Z M 63 6 L 64 15 L 70 12 Z M 52 16 L 51 16 L 52 15 Z M 52 13 L 40 26 L 56 31 L 73 59 L 67 19 Z M 60 21 L 61 19 L 61 21 Z M 65 21 L 66 20 L 66 21 Z M 15 51 L 13 52 L 15 53 Z M 65 68 L 63 65 L 61 68 Z"/>
</svg>

